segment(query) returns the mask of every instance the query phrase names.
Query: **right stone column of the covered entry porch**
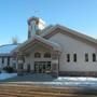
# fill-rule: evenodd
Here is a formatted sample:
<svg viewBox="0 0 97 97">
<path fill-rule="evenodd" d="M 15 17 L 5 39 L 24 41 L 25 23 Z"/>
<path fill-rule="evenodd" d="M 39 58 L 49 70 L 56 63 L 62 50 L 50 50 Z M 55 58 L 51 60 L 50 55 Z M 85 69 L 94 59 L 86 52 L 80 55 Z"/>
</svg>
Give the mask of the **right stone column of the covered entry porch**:
<svg viewBox="0 0 97 97">
<path fill-rule="evenodd" d="M 58 77 L 59 52 L 52 52 L 52 75 Z"/>
</svg>

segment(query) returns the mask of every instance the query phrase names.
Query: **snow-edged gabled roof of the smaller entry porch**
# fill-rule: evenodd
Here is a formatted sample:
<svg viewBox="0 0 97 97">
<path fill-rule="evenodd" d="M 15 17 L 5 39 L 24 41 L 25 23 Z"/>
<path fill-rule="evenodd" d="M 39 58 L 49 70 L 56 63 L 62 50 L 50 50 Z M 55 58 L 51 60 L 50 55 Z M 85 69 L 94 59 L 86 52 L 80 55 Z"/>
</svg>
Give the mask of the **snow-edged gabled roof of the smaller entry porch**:
<svg viewBox="0 0 97 97">
<path fill-rule="evenodd" d="M 61 47 L 60 47 L 60 45 L 59 45 L 58 43 L 52 42 L 52 41 L 46 40 L 46 39 L 44 39 L 44 38 L 42 38 L 42 37 L 40 37 L 40 36 L 37 36 L 37 34 L 33 36 L 31 39 L 27 40 L 26 42 L 24 42 L 22 45 L 19 45 L 19 46 L 17 47 L 17 51 L 18 51 L 19 48 L 25 47 L 26 45 L 28 45 L 29 43 L 31 43 L 31 42 L 34 41 L 34 40 L 38 40 L 39 42 L 42 42 L 42 43 L 44 43 L 44 44 L 47 44 L 47 45 L 52 46 L 55 51 L 61 51 Z"/>
</svg>

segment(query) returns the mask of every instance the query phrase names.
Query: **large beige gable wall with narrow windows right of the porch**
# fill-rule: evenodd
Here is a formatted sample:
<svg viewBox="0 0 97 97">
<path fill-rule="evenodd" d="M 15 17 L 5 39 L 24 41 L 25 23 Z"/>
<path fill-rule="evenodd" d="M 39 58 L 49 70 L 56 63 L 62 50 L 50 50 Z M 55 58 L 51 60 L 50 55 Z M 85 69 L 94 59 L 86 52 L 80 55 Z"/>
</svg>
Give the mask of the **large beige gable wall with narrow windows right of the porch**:
<svg viewBox="0 0 97 97">
<path fill-rule="evenodd" d="M 59 43 L 63 46 L 60 56 L 60 71 L 97 71 L 97 63 L 93 63 L 92 54 L 96 48 L 89 44 L 75 40 L 63 33 L 56 33 L 51 41 Z M 77 53 L 78 61 L 73 61 L 73 54 Z M 88 63 L 85 61 L 85 53 L 88 53 Z M 70 63 L 67 63 L 66 54 L 70 54 Z"/>
</svg>

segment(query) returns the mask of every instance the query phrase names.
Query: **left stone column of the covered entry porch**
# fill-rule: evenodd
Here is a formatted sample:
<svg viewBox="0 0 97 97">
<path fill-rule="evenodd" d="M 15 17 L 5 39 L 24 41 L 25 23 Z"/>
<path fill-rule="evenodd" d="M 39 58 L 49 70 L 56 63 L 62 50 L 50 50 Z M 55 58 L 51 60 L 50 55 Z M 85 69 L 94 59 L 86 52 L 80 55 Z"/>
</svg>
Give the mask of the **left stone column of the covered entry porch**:
<svg viewBox="0 0 97 97">
<path fill-rule="evenodd" d="M 24 74 L 24 56 L 23 56 L 23 54 L 17 55 L 17 74 L 18 75 Z"/>
</svg>

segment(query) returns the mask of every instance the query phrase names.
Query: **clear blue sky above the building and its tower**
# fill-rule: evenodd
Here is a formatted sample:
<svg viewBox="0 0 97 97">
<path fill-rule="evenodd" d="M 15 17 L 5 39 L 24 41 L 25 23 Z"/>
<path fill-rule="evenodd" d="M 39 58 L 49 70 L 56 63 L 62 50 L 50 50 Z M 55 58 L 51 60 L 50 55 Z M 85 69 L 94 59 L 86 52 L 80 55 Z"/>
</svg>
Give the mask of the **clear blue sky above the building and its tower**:
<svg viewBox="0 0 97 97">
<path fill-rule="evenodd" d="M 27 40 L 31 16 L 97 39 L 97 0 L 0 0 L 0 45 Z"/>
</svg>

